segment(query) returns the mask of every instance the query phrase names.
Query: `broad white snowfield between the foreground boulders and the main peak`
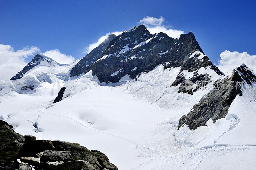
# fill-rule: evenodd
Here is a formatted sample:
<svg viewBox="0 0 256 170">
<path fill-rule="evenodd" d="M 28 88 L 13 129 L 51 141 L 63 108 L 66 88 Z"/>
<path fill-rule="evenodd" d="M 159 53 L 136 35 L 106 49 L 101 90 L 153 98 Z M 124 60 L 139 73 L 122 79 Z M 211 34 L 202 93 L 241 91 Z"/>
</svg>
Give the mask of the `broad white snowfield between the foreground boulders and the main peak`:
<svg viewBox="0 0 256 170">
<path fill-rule="evenodd" d="M 164 86 L 161 77 L 157 81 L 148 79 L 152 86 Z M 168 79 L 169 83 L 174 81 Z M 89 72 L 66 84 L 67 89 L 60 102 L 9 112 L 5 121 L 14 125 L 15 131 L 21 134 L 34 135 L 38 139 L 79 142 L 88 148 L 102 150 L 119 169 L 255 167 L 252 159 L 256 152 L 255 125 L 252 123 L 256 109 L 255 83 L 246 85 L 242 96 L 237 95 L 225 118 L 215 123 L 209 120 L 208 126 L 196 130 L 189 130 L 187 126 L 177 129 L 180 116 L 191 109 L 192 104 L 189 103 L 192 99 L 180 102 L 177 97 L 173 98 L 173 94 L 170 98 L 183 105 L 176 103 L 176 109 L 175 104 L 163 109 L 158 103 L 148 102 L 150 97 L 145 96 L 149 92 L 136 97 L 136 93 L 127 89 L 135 88 L 135 83 L 144 82 L 137 80 L 116 87 L 102 86 Z M 148 88 L 148 91 L 157 87 Z M 200 90 L 197 92 L 199 94 Z M 195 94 L 176 92 L 176 95 L 192 98 Z M 19 102 L 28 105 L 27 101 Z M 44 132 L 34 132 L 33 122 L 37 122 L 38 128 Z"/>
</svg>

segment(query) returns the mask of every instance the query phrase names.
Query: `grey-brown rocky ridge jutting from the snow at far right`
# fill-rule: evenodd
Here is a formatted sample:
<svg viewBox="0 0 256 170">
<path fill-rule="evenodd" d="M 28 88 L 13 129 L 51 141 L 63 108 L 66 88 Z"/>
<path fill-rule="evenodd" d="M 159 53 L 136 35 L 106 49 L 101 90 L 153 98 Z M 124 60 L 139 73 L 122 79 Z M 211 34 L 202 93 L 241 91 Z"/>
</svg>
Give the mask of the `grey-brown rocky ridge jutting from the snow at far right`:
<svg viewBox="0 0 256 170">
<path fill-rule="evenodd" d="M 183 115 L 180 118 L 178 128 L 186 124 L 190 129 L 196 129 L 199 126 L 205 126 L 211 118 L 213 123 L 224 118 L 236 95 L 243 95 L 243 85 L 252 85 L 255 82 L 256 75 L 242 64 L 223 79 L 214 82 L 214 89 L 195 104 L 187 116 Z"/>
</svg>

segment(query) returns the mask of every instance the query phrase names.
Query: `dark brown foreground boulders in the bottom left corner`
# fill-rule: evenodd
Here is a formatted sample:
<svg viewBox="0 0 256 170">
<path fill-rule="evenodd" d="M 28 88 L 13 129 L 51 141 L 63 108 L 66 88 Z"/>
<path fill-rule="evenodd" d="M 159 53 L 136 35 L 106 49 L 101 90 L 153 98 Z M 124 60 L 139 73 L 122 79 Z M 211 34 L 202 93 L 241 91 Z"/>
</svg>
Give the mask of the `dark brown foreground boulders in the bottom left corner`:
<svg viewBox="0 0 256 170">
<path fill-rule="evenodd" d="M 105 154 L 77 143 L 22 136 L 1 120 L 0 132 L 1 170 L 31 170 L 31 166 L 45 170 L 117 170 Z"/>
</svg>

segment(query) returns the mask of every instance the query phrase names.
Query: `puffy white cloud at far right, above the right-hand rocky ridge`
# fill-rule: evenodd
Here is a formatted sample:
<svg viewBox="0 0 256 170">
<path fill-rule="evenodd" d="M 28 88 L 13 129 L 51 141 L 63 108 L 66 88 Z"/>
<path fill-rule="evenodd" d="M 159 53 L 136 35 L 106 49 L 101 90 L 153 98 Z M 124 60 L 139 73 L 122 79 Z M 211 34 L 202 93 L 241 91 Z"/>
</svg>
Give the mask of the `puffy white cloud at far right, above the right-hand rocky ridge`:
<svg viewBox="0 0 256 170">
<path fill-rule="evenodd" d="M 239 53 L 237 51 L 231 52 L 226 50 L 220 54 L 220 61 L 217 67 L 222 72 L 227 73 L 243 63 L 254 70 L 254 72 L 256 71 L 256 55 L 249 55 L 247 52 Z"/>
</svg>

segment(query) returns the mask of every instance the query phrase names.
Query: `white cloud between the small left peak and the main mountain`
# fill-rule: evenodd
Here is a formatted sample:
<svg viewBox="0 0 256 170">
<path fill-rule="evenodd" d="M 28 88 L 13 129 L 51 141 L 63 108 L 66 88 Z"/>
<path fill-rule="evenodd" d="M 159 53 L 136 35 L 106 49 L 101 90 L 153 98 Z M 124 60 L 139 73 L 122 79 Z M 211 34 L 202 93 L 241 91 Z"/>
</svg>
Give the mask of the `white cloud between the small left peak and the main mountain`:
<svg viewBox="0 0 256 170">
<path fill-rule="evenodd" d="M 58 49 L 45 51 L 43 55 L 46 55 L 61 64 L 70 64 L 75 61 L 75 58 L 72 57 L 72 55 L 62 54 Z"/>
</svg>

